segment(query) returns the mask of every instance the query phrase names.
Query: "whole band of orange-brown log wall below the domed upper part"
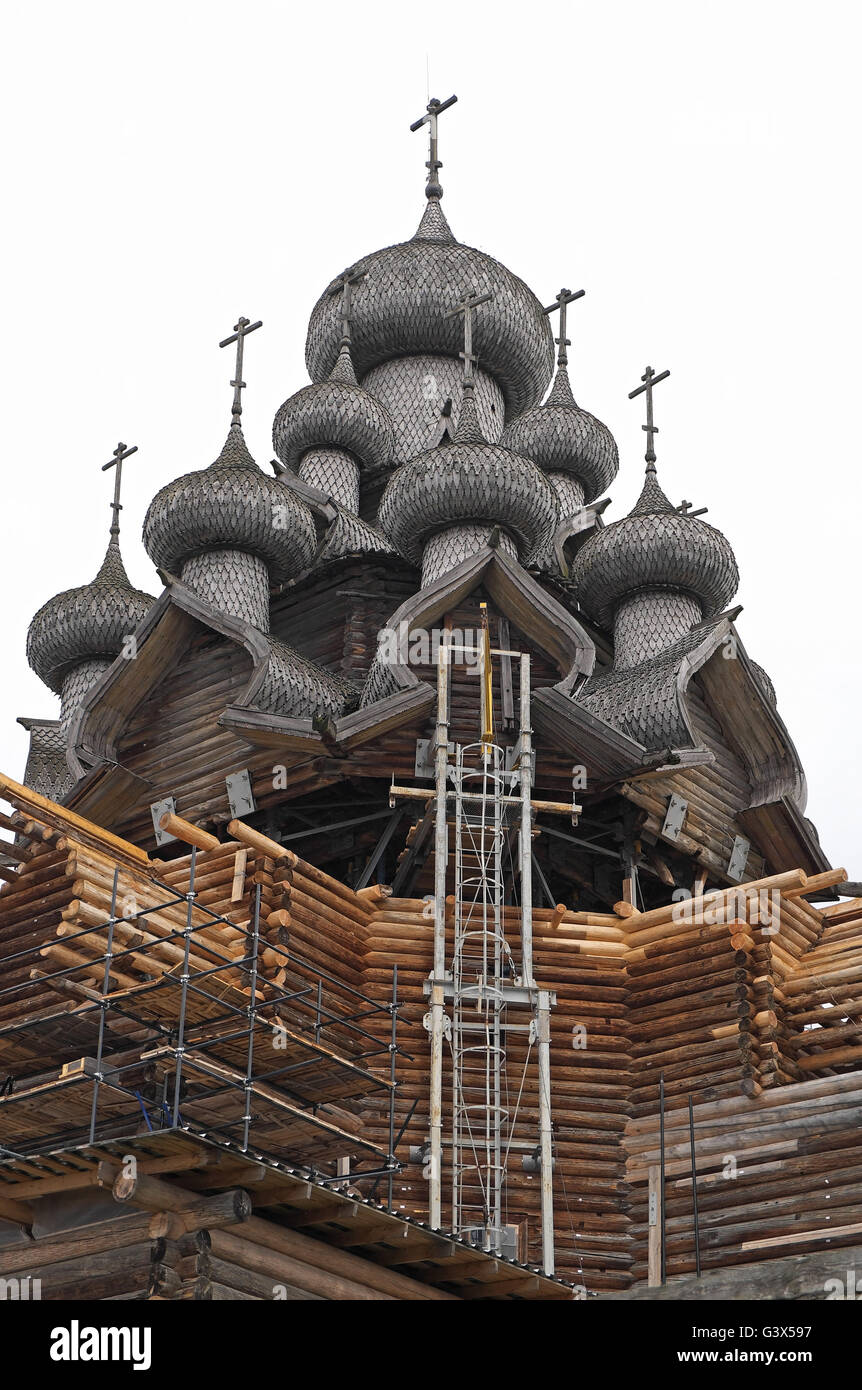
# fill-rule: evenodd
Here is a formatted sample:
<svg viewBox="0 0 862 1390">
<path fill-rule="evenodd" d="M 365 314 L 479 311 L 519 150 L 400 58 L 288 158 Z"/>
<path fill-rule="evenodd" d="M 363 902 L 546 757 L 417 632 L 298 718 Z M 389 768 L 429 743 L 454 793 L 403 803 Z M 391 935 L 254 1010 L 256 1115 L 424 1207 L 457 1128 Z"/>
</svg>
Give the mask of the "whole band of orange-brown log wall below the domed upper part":
<svg viewBox="0 0 862 1390">
<path fill-rule="evenodd" d="M 0 888 L 0 1059 L 13 1083 L 13 1094 L 0 1099 L 0 1141 L 6 1143 L 8 1125 L 18 1125 L 26 1143 L 86 1131 L 90 1091 L 75 1074 L 57 1087 L 57 1069 L 64 1061 L 93 1055 L 97 1012 L 92 999 L 101 990 L 99 956 L 115 865 L 124 915 L 132 915 L 129 903 L 135 910 L 158 910 L 117 926 L 121 954 L 111 962 L 108 1002 L 122 1012 L 108 1009 L 106 1016 L 108 1058 L 125 1065 L 136 1048 L 140 1052 L 139 1038 L 152 1038 L 147 1019 L 175 1017 L 177 988 L 153 992 L 153 986 L 174 981 L 179 972 L 175 934 L 185 923 L 190 856 L 171 863 L 146 860 L 133 845 L 125 853 L 110 837 L 100 840 L 97 827 L 88 831 L 71 821 L 64 827 L 63 809 L 54 812 L 29 820 L 24 812 L 10 823 L 18 835 L 13 847 L 18 869 Z M 414 1111 L 398 1145 L 403 1173 L 395 1200 L 399 1211 L 423 1219 L 427 1183 L 409 1150 L 428 1133 L 423 987 L 431 970 L 432 919 L 427 902 L 392 898 L 385 888 L 355 892 L 309 860 L 254 833 L 249 838 L 242 826 L 239 831 L 241 838 L 197 852 L 192 967 L 210 972 L 222 1001 L 247 1005 L 243 931 L 260 888 L 261 1006 L 274 991 L 289 988 L 299 997 L 282 1019 L 314 1034 L 321 1023 L 320 981 L 324 1041 L 359 1063 L 375 1052 L 367 1066 L 385 1079 L 391 1024 L 385 1005 L 398 965 L 396 1127 L 413 1105 Z M 834 881 L 841 873 L 820 877 Z M 646 1202 L 658 1162 L 660 1074 L 667 1105 L 672 1273 L 692 1268 L 690 1095 L 709 1268 L 751 1262 L 752 1251 L 756 1258 L 779 1258 L 826 1240 L 858 1238 L 862 902 L 820 910 L 802 897 L 806 887 L 812 884 L 794 870 L 748 884 L 744 894 L 727 890 L 649 912 L 624 903 L 619 915 L 534 909 L 537 980 L 556 994 L 551 1073 L 558 1268 L 576 1283 L 613 1291 L 646 1276 L 655 1245 Z M 164 906 L 170 892 L 181 901 Z M 207 920 L 204 905 L 227 920 Z M 519 927 L 517 909 L 506 909 L 514 959 Z M 380 1012 L 357 1004 L 352 991 L 375 1001 Z M 161 1012 L 152 999 L 167 1001 Z M 327 1011 L 339 1017 L 328 1020 Z M 360 1011 L 371 1040 L 343 1022 L 346 1013 Z M 189 1016 L 204 1023 L 209 1017 L 199 1004 Z M 261 1070 L 256 1058 L 256 1074 Z M 506 1081 L 513 1137 L 531 1141 L 538 1127 L 535 1058 L 528 1056 L 523 1034 L 507 1048 Z M 19 1104 L 21 1090 L 32 1093 L 32 1102 Z M 448 1112 L 448 1093 L 444 1099 Z M 107 1083 L 103 1104 L 108 1119 L 121 1126 L 136 1113 L 135 1106 L 129 1112 L 128 1093 L 117 1098 Z M 382 1091 L 355 1087 L 336 1112 L 343 1137 L 330 1143 L 328 1151 L 307 1137 L 296 1140 L 296 1131 L 284 1126 L 271 1131 L 270 1143 L 275 1134 L 284 1152 L 299 1162 L 303 1154 L 320 1152 L 323 1159 L 316 1161 L 325 1163 L 336 1156 L 356 1161 L 359 1138 L 387 1151 Z M 538 1180 L 523 1172 L 520 1151 L 513 1151 L 509 1172 L 507 1220 L 523 1227 L 523 1254 L 538 1262 Z M 129 1254 L 132 1284 L 145 1261 L 143 1244 L 138 1244 Z M 204 1277 L 217 1290 L 242 1293 L 221 1265 L 217 1272 L 224 1277 L 207 1276 L 216 1268 L 207 1261 L 231 1264 L 224 1251 L 195 1247 L 178 1258 L 192 1264 L 177 1284 L 168 1275 L 165 1280 L 171 1289 L 182 1287 L 184 1297 Z M 93 1287 L 99 1287 L 100 1268 L 92 1266 Z"/>
</svg>

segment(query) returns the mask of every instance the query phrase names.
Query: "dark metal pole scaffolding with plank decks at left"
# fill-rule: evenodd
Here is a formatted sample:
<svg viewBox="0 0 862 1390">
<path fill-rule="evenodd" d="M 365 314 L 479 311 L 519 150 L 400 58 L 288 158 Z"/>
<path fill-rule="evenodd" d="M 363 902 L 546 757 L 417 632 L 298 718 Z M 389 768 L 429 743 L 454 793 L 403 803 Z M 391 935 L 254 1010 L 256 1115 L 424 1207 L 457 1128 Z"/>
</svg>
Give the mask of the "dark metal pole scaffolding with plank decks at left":
<svg viewBox="0 0 862 1390">
<path fill-rule="evenodd" d="M 40 934 L 4 952 L 11 983 L 0 1006 L 25 1012 L 0 1026 L 0 1156 L 182 1130 L 273 1159 L 286 1152 L 323 1182 L 382 1182 L 392 1209 L 395 1072 L 409 1055 L 398 1040 L 398 967 L 381 1004 L 267 941 L 260 884 L 247 924 L 213 910 L 196 888 L 195 848 L 188 887 L 153 880 L 158 901 L 146 906 L 121 899 L 122 874 L 114 866 L 101 920 L 68 931 L 61 947 Z M 44 969 L 46 940 L 60 954 L 54 969 Z M 58 1002 L 28 1008 L 44 987 Z M 46 1054 L 61 1065 L 40 1076 Z M 374 1097 L 388 1104 L 385 1148 L 363 1131 Z"/>
</svg>

